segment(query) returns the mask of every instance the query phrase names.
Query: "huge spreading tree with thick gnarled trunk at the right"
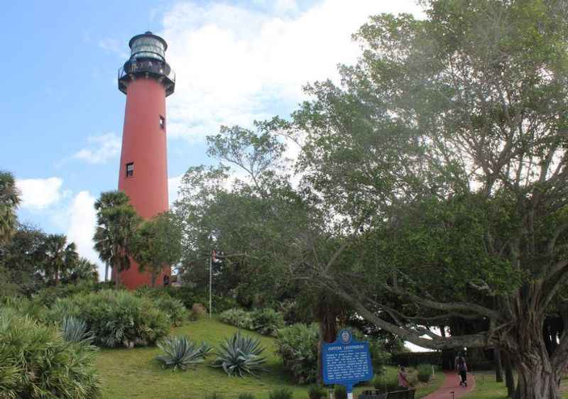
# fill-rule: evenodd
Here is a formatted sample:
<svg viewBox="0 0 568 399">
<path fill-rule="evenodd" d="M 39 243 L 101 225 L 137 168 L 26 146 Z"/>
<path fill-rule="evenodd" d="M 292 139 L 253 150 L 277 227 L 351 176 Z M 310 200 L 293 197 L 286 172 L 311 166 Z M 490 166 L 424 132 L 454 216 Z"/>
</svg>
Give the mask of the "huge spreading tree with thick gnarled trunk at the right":
<svg viewBox="0 0 568 399">
<path fill-rule="evenodd" d="M 315 101 L 275 121 L 305 138 L 303 185 L 351 227 L 336 258 L 360 251 L 312 275 L 415 344 L 496 346 L 517 397 L 559 398 L 568 334 L 548 354 L 543 325 L 568 280 L 566 2 L 424 4 L 425 21 L 372 17 L 344 86 L 310 85 Z M 424 328 L 450 319 L 483 329 Z"/>
</svg>

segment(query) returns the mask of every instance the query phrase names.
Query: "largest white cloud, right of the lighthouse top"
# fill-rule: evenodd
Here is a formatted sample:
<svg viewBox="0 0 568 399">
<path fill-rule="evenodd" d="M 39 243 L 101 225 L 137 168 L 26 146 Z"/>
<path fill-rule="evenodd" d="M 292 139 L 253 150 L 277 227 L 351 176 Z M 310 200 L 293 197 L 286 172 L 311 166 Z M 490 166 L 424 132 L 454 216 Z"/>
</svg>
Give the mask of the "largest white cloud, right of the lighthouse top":
<svg viewBox="0 0 568 399">
<path fill-rule="evenodd" d="M 241 6 L 180 3 L 165 13 L 167 58 L 176 70 L 168 99 L 168 134 L 195 140 L 220 124 L 249 126 L 303 99 L 307 82 L 339 80 L 338 63 L 352 63 L 359 46 L 351 34 L 382 12 L 420 15 L 413 0 L 323 0 L 304 12 L 293 0 L 273 3 L 273 14 Z"/>
</svg>

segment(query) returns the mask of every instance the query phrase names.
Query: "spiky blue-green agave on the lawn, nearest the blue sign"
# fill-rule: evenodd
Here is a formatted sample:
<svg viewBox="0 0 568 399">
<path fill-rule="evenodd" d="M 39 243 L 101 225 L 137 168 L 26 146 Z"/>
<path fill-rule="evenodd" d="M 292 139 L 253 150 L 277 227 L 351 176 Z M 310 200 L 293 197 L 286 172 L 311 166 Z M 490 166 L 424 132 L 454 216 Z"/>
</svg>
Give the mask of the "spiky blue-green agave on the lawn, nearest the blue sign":
<svg viewBox="0 0 568 399">
<path fill-rule="evenodd" d="M 263 351 L 261 341 L 243 336 L 239 331 L 219 346 L 212 366 L 222 367 L 229 376 L 242 377 L 245 373 L 256 376 L 255 371 L 262 371 L 266 362 L 266 358 L 261 356 Z"/>
</svg>

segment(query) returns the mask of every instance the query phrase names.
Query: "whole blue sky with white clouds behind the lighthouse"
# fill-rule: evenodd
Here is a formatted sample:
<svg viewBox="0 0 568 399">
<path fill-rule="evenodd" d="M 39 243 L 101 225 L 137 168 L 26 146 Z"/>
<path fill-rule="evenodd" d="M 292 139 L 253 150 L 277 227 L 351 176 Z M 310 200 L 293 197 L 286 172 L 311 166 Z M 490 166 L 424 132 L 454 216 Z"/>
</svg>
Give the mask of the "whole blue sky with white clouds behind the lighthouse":
<svg viewBox="0 0 568 399">
<path fill-rule="evenodd" d="M 128 40 L 153 31 L 177 72 L 168 97 L 170 200 L 191 165 L 212 163 L 204 137 L 219 125 L 288 116 L 307 82 L 337 80 L 356 60 L 351 33 L 373 13 L 413 0 L 9 1 L 2 4 L 4 122 L 0 170 L 23 192 L 19 217 L 92 249 L 100 192 L 118 181 L 125 96 L 116 72 Z"/>
</svg>

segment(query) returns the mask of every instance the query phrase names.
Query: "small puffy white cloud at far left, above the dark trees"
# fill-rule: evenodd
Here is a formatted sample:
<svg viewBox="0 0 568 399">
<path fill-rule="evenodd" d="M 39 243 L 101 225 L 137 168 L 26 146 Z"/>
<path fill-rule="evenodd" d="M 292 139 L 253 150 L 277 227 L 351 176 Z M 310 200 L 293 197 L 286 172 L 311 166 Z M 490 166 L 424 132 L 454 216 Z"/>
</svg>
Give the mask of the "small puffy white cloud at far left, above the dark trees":
<svg viewBox="0 0 568 399">
<path fill-rule="evenodd" d="M 21 191 L 21 207 L 28 209 L 45 209 L 58 204 L 67 194 L 62 192 L 63 180 L 60 177 L 47 179 L 21 179 L 16 181 Z"/>
</svg>

